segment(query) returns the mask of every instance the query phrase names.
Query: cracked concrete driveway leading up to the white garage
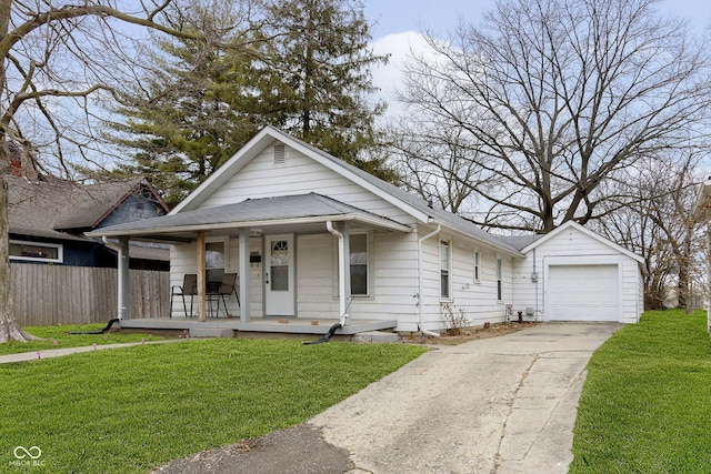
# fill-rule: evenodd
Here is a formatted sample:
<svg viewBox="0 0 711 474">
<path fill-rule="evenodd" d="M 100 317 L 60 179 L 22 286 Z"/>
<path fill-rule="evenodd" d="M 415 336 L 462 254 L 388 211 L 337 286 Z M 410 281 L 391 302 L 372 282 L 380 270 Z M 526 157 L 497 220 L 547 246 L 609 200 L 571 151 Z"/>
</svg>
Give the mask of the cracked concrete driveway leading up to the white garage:
<svg viewBox="0 0 711 474">
<path fill-rule="evenodd" d="M 437 346 L 290 430 L 159 473 L 565 473 L 585 365 L 620 324 Z"/>
</svg>

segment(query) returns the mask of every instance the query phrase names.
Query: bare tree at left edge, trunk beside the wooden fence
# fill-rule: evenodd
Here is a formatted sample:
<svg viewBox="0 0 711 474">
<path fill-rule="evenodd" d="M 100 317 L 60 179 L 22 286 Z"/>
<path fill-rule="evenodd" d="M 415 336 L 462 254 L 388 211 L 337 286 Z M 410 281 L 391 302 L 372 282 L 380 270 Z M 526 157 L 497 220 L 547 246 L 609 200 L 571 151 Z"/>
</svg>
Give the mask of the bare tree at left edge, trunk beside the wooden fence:
<svg viewBox="0 0 711 474">
<path fill-rule="evenodd" d="M 8 144 L 20 145 L 28 161 L 64 172 L 71 157 L 92 160 L 91 101 L 111 97 L 137 52 L 126 49 L 126 28 L 201 38 L 161 21 L 180 8 L 171 0 L 142 0 L 132 11 L 113 0 L 0 0 L 0 342 L 32 337 L 18 326 L 9 301 Z"/>
</svg>

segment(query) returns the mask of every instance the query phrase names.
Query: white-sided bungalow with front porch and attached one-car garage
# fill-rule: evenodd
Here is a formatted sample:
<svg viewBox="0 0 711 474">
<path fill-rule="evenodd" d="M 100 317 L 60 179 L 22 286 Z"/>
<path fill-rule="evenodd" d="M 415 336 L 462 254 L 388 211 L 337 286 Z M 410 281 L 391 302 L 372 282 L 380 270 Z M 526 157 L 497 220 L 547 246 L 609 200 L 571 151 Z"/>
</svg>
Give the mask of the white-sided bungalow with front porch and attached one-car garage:
<svg viewBox="0 0 711 474">
<path fill-rule="evenodd" d="M 633 323 L 642 311 L 642 259 L 578 224 L 499 238 L 271 127 L 168 215 L 92 235 L 169 242 L 171 283 L 198 279 L 197 317 L 180 302 L 171 317 L 130 320 L 120 290 L 122 326 L 427 333 L 445 311 L 472 325 L 519 311 Z M 226 273 L 239 303 L 220 313 L 208 293 Z"/>
</svg>

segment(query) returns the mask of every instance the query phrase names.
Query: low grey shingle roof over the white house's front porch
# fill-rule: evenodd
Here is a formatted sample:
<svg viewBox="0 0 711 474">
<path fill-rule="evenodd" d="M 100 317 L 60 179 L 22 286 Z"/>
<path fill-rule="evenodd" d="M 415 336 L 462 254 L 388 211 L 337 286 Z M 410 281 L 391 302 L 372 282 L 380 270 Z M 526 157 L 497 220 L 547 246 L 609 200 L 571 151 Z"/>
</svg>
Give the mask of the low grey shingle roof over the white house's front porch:
<svg viewBox="0 0 711 474">
<path fill-rule="evenodd" d="M 317 194 L 297 194 L 276 198 L 248 199 L 234 204 L 183 211 L 178 214 L 147 219 L 144 221 L 128 222 L 112 225 L 111 233 L 122 231 L 150 231 L 154 229 L 176 229 L 220 225 L 231 223 L 247 223 L 256 221 L 278 221 L 290 219 L 326 219 L 327 216 L 352 215 L 380 222 L 383 225 L 400 226 L 391 219 L 375 215 L 362 209 L 346 204 L 334 199 Z M 99 231 L 101 233 L 101 231 Z"/>
</svg>

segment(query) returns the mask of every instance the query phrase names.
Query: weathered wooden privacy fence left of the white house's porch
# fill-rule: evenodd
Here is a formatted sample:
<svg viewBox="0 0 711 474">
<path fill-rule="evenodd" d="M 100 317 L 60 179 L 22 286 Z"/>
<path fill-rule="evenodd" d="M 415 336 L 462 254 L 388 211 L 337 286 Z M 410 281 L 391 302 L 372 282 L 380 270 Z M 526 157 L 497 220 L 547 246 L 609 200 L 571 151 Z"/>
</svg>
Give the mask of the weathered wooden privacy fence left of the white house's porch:
<svg viewBox="0 0 711 474">
<path fill-rule="evenodd" d="M 117 269 L 10 264 L 14 316 L 21 326 L 86 324 L 117 317 Z M 168 316 L 170 273 L 130 271 L 131 319 Z"/>
</svg>

